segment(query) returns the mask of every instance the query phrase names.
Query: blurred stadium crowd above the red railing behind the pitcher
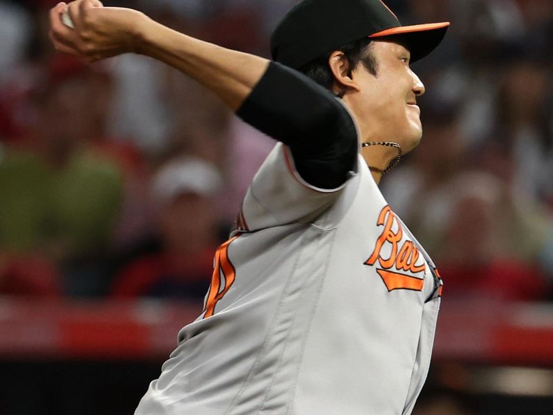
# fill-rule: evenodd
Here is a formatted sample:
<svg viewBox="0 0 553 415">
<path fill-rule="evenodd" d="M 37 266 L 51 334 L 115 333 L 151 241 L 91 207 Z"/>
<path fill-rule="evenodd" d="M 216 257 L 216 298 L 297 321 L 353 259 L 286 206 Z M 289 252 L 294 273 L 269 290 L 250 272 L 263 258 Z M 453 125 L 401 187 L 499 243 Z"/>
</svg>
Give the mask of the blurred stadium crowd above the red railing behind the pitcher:
<svg viewBox="0 0 553 415">
<path fill-rule="evenodd" d="M 0 295 L 202 299 L 274 142 L 151 59 L 54 53 L 57 1 L 0 0 Z M 292 0 L 104 1 L 268 56 Z M 415 64 L 424 136 L 382 182 L 446 297 L 551 299 L 553 2 L 388 0 L 451 21 Z"/>
</svg>

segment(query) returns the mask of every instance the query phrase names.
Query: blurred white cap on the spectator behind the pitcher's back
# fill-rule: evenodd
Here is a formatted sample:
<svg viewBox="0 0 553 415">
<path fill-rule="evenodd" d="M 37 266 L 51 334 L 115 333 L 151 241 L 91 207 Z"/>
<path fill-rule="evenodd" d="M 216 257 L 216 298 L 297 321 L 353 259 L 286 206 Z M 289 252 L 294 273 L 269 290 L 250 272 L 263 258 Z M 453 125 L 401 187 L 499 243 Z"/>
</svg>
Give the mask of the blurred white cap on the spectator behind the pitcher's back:
<svg viewBox="0 0 553 415">
<path fill-rule="evenodd" d="M 184 193 L 214 196 L 223 179 L 218 169 L 199 157 L 186 156 L 172 160 L 153 177 L 152 196 L 169 203 Z"/>
</svg>

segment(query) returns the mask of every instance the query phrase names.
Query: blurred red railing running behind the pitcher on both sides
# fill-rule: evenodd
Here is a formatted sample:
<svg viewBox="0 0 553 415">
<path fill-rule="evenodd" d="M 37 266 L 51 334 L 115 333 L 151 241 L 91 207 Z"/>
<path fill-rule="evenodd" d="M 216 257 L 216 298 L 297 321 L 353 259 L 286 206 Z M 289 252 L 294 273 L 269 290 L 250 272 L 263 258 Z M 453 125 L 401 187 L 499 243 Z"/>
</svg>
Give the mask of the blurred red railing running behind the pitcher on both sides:
<svg viewBox="0 0 553 415">
<path fill-rule="evenodd" d="M 167 356 L 201 304 L 0 299 L 0 359 Z M 443 303 L 435 360 L 553 366 L 553 305 Z"/>
</svg>

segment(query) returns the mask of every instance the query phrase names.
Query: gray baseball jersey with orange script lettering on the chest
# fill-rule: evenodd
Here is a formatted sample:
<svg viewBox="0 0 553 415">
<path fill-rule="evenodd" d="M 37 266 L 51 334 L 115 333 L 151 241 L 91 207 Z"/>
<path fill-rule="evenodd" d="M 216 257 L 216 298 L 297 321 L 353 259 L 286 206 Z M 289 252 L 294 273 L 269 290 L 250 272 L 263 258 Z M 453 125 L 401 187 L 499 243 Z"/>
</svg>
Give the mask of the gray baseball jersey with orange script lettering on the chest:
<svg viewBox="0 0 553 415">
<path fill-rule="evenodd" d="M 136 415 L 411 413 L 442 281 L 361 156 L 321 190 L 277 144 L 231 236 Z"/>
</svg>

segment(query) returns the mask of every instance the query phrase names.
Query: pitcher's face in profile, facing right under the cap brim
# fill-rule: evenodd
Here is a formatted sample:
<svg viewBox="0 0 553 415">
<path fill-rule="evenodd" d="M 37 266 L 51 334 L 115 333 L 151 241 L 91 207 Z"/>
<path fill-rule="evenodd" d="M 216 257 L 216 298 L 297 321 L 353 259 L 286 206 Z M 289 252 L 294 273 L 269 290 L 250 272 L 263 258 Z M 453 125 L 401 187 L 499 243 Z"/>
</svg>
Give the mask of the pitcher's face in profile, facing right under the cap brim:
<svg viewBox="0 0 553 415">
<path fill-rule="evenodd" d="M 392 141 L 410 151 L 420 142 L 422 125 L 418 96 L 424 85 L 409 67 L 411 54 L 401 44 L 375 41 L 372 46 L 377 75 L 359 64 L 353 81 L 359 93 L 348 104 L 357 118 L 363 141 Z"/>
</svg>

